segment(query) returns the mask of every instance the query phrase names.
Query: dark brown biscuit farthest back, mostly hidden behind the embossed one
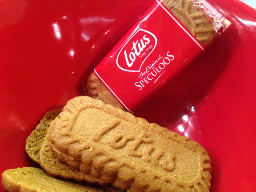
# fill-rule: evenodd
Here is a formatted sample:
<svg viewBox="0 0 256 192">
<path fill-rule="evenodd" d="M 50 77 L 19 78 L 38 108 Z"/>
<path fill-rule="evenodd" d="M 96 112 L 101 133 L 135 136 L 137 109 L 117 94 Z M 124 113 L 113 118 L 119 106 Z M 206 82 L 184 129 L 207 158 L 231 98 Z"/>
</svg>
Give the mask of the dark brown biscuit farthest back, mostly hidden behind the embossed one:
<svg viewBox="0 0 256 192">
<path fill-rule="evenodd" d="M 28 153 L 29 158 L 35 163 L 39 163 L 39 151 L 47 129 L 50 126 L 50 122 L 55 119 L 60 112 L 61 110 L 48 111 L 26 139 L 25 150 Z"/>
</svg>

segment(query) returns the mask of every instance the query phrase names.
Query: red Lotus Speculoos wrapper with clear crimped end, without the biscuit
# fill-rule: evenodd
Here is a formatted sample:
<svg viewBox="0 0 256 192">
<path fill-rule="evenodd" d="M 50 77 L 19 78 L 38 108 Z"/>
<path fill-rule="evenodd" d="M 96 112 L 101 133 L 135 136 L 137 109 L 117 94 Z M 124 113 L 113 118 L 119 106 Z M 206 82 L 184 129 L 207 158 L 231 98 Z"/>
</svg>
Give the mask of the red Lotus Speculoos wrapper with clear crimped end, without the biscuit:
<svg viewBox="0 0 256 192">
<path fill-rule="evenodd" d="M 202 37 L 206 42 L 200 42 L 182 24 L 168 9 L 168 4 L 156 0 L 94 69 L 95 75 L 126 110 L 135 112 L 157 89 L 202 53 L 220 34 L 221 27 L 225 29 L 230 25 L 206 1 L 197 0 L 196 4 L 208 19 L 214 19 L 210 28 L 213 36 Z"/>
</svg>

